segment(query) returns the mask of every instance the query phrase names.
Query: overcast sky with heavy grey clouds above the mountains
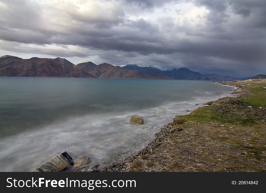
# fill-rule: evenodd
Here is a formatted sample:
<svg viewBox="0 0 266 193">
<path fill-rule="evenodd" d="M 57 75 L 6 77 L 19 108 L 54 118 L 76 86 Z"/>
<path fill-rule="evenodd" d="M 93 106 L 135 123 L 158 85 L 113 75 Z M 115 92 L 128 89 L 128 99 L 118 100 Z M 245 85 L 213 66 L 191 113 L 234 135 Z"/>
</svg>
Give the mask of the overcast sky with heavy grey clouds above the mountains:
<svg viewBox="0 0 266 193">
<path fill-rule="evenodd" d="M 266 74 L 265 0 L 0 0 L 0 55 Z"/>
</svg>

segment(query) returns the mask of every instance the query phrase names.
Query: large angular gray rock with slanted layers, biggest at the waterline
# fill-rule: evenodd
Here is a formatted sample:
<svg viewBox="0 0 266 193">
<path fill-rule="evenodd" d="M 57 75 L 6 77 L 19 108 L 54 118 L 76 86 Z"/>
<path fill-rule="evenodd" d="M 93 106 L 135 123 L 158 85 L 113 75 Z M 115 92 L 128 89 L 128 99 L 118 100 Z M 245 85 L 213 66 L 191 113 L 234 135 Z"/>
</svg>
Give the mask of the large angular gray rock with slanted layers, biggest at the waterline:
<svg viewBox="0 0 266 193">
<path fill-rule="evenodd" d="M 72 157 L 66 151 L 63 151 L 61 154 L 41 164 L 35 170 L 32 170 L 32 172 L 60 172 L 70 164 L 73 164 Z"/>
</svg>

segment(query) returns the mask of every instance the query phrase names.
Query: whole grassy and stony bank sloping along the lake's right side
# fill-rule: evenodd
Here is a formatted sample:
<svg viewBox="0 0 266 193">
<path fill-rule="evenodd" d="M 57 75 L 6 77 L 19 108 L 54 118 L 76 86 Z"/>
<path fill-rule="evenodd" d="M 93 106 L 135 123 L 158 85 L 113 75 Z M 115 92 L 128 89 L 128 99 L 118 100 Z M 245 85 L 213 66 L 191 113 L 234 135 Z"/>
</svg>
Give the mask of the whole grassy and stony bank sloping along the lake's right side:
<svg viewBox="0 0 266 193">
<path fill-rule="evenodd" d="M 176 116 L 143 151 L 104 171 L 266 171 L 266 79 Z M 241 90 L 241 92 L 238 92 Z"/>
</svg>

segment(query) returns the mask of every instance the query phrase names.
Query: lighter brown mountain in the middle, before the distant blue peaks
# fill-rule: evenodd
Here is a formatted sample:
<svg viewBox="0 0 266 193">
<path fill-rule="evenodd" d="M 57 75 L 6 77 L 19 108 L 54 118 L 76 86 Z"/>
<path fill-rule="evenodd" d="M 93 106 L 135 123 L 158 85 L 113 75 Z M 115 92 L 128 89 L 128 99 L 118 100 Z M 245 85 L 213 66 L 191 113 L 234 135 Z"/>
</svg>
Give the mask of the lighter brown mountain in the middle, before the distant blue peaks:
<svg viewBox="0 0 266 193">
<path fill-rule="evenodd" d="M 82 69 L 98 78 L 160 79 L 139 70 L 123 69 L 120 66 L 113 66 L 107 63 L 96 65 L 92 62 L 86 62 L 77 64 L 75 68 Z"/>
</svg>

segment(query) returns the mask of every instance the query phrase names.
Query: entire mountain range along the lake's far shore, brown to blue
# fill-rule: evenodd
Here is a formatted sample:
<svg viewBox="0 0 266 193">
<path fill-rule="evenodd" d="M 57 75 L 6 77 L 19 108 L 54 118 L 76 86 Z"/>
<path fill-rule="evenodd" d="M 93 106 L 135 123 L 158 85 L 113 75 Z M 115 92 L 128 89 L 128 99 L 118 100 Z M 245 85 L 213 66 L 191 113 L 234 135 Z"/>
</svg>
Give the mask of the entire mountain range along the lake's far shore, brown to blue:
<svg viewBox="0 0 266 193">
<path fill-rule="evenodd" d="M 118 78 L 118 79 L 181 79 L 232 81 L 235 78 L 217 74 L 201 74 L 188 68 L 162 71 L 155 67 L 128 64 L 124 67 L 85 62 L 73 64 L 64 58 L 22 59 L 5 55 L 0 57 L 0 76 Z"/>
</svg>

